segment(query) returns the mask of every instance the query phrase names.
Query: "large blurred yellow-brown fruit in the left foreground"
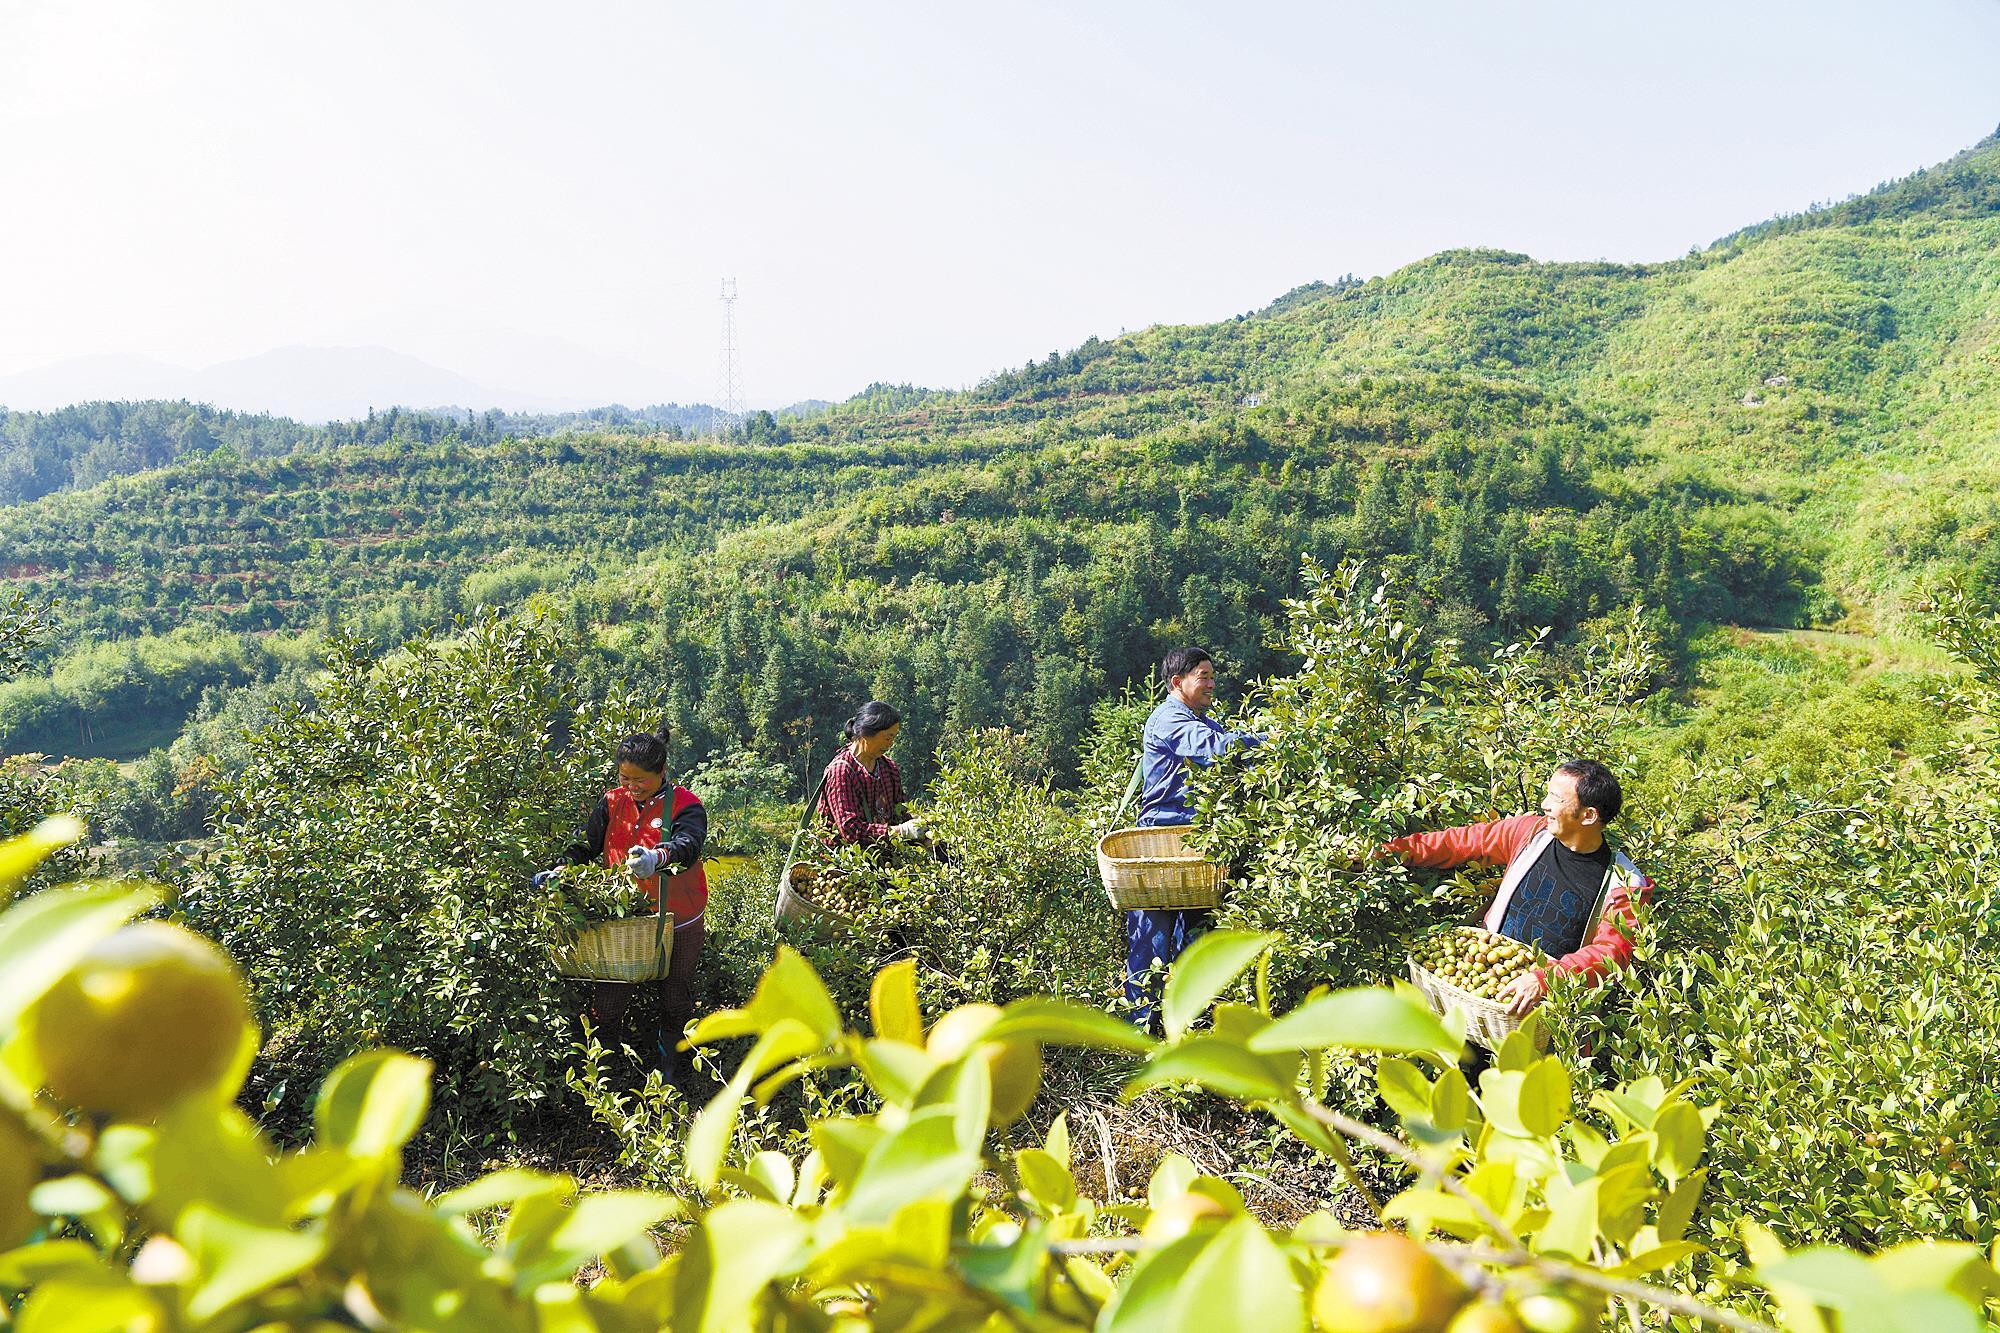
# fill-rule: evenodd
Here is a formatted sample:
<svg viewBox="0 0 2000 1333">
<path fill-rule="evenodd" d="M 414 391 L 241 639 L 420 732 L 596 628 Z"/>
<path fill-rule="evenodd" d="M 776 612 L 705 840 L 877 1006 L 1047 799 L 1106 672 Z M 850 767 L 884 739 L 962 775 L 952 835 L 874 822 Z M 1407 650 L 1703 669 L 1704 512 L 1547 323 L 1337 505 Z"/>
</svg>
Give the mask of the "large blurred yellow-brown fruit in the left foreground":
<svg viewBox="0 0 2000 1333">
<path fill-rule="evenodd" d="M 98 941 L 24 1027 L 50 1093 L 126 1121 L 192 1093 L 232 1097 L 254 1037 L 236 965 L 164 921 Z"/>
</svg>

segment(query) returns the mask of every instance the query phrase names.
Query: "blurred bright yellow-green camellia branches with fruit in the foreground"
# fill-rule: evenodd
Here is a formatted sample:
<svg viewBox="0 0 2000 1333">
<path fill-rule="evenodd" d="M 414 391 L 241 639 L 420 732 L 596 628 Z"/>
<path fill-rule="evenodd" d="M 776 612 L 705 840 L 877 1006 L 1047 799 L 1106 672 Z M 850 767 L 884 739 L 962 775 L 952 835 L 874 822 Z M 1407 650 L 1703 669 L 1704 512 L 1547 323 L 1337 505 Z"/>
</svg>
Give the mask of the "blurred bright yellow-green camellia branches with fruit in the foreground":
<svg viewBox="0 0 2000 1333">
<path fill-rule="evenodd" d="M 78 833 L 50 823 L 0 845 L 0 891 Z M 878 973 L 858 1031 L 780 949 L 746 1007 L 694 1033 L 750 1047 L 690 1129 L 682 1195 L 502 1169 L 422 1199 L 398 1177 L 426 1063 L 348 1059 L 318 1093 L 316 1141 L 280 1153 L 232 1101 L 256 1045 L 234 965 L 180 927 L 128 925 L 152 901 L 50 889 L 0 915 L 0 1293 L 22 1333 L 1566 1333 L 1614 1311 L 1972 1333 L 2000 1289 L 1966 1245 L 1788 1255 L 1752 1229 L 1756 1267 L 1722 1275 L 1740 1309 L 1668 1291 L 1648 1275 L 1700 1249 L 1688 1223 L 1708 1113 L 1686 1089 L 1642 1081 L 1580 1109 L 1570 1071 L 1530 1037 L 1474 1085 L 1458 1023 L 1404 991 L 1320 993 L 1274 1015 L 1274 941 L 1244 931 L 1180 959 L 1164 1043 L 1054 999 L 926 1023 L 908 963 Z M 1266 1109 L 1348 1171 L 1374 1225 L 1268 1227 L 1178 1157 L 1144 1201 L 1086 1197 L 1062 1117 L 1002 1141 L 1034 1103 L 1046 1045 L 1128 1053 L 1128 1093 L 1192 1083 Z M 1400 1137 L 1324 1101 L 1344 1051 L 1378 1057 Z M 832 1071 L 858 1075 L 866 1113 L 812 1123 L 796 1159 L 744 1139 L 746 1099 Z M 1396 1193 L 1352 1171 L 1354 1141 L 1404 1165 Z M 586 1265 L 594 1281 L 578 1279 Z"/>
</svg>

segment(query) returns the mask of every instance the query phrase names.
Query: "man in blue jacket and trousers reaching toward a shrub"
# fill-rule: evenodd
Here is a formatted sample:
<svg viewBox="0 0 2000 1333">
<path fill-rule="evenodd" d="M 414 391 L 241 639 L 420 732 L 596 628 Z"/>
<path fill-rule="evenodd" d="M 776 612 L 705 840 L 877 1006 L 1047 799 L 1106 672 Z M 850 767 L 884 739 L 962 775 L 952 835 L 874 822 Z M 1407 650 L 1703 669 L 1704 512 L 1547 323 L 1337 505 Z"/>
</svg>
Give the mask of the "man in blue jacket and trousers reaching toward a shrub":
<svg viewBox="0 0 2000 1333">
<path fill-rule="evenodd" d="M 1160 662 L 1166 677 L 1166 703 L 1146 719 L 1146 739 L 1140 753 L 1138 823 L 1194 823 L 1188 807 L 1188 765 L 1208 767 L 1232 745 L 1256 745 L 1262 737 L 1248 731 L 1224 731 L 1208 717 L 1216 701 L 1216 664 L 1200 648 L 1174 648 Z M 1132 1021 L 1152 1027 L 1158 981 L 1152 965 L 1170 965 L 1196 935 L 1208 929 L 1208 909 L 1160 909 L 1126 913 L 1126 1003 Z"/>
</svg>

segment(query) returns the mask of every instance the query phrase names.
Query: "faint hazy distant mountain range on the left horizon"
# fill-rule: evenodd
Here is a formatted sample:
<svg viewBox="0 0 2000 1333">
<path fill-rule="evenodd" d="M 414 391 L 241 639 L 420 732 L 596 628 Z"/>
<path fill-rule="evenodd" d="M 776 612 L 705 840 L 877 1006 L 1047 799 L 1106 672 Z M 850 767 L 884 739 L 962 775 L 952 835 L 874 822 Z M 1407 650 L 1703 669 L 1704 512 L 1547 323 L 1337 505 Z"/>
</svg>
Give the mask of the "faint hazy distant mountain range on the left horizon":
<svg viewBox="0 0 2000 1333">
<path fill-rule="evenodd" d="M 514 340 L 522 342 L 522 340 Z M 370 410 L 468 408 L 574 412 L 608 402 L 668 402 L 696 396 L 684 380 L 632 360 L 608 358 L 558 338 L 508 346 L 490 364 L 530 362 L 538 378 L 588 386 L 586 396 L 514 388 L 474 378 L 386 346 L 282 346 L 214 366 L 176 366 L 152 356 L 72 356 L 0 374 L 0 406 L 22 412 L 76 402 L 184 398 L 238 412 L 302 422 L 354 420 Z M 560 376 L 550 372 L 560 368 Z"/>
</svg>

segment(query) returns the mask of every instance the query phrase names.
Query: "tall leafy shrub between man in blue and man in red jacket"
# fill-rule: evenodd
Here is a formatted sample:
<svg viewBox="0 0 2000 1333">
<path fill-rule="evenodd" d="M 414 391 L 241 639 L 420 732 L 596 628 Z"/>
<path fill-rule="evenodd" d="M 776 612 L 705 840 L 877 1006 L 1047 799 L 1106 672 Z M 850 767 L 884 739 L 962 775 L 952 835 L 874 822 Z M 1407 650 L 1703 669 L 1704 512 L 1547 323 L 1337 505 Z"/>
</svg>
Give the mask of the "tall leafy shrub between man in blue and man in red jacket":
<svg viewBox="0 0 2000 1333">
<path fill-rule="evenodd" d="M 1308 562 L 1306 594 L 1286 608 L 1302 666 L 1248 701 L 1270 741 L 1192 787 L 1194 837 L 1232 867 L 1220 921 L 1280 931 L 1272 983 L 1298 999 L 1392 975 L 1414 935 L 1484 907 L 1490 881 L 1428 885 L 1374 851 L 1530 811 L 1562 759 L 1624 767 L 1618 729 L 1658 654 L 1634 612 L 1576 652 L 1554 656 L 1538 634 L 1468 662 L 1416 628 L 1396 582 L 1358 564 Z"/>
</svg>

